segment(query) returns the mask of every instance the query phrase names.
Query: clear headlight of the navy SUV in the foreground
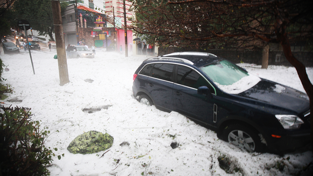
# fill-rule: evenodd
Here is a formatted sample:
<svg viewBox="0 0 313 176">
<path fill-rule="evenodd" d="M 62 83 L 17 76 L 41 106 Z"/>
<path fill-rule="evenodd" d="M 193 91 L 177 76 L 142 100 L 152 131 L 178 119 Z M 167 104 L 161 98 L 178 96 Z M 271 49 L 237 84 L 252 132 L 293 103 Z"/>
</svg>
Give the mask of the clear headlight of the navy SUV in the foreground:
<svg viewBox="0 0 313 176">
<path fill-rule="evenodd" d="M 287 130 L 300 128 L 303 122 L 298 116 L 295 115 L 275 115 L 280 124 Z"/>
</svg>

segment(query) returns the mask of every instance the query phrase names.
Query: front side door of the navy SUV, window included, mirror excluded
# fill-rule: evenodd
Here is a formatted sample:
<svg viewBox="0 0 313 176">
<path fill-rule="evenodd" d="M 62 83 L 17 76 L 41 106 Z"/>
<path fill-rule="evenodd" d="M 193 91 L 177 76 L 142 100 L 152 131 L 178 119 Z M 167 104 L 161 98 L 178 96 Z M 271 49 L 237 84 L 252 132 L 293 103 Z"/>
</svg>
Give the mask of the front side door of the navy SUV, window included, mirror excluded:
<svg viewBox="0 0 313 176">
<path fill-rule="evenodd" d="M 213 94 L 197 94 L 198 87 L 200 86 L 207 86 Z M 175 111 L 212 125 L 214 97 L 213 88 L 196 70 L 184 65 L 176 66 L 175 83 L 173 85 Z"/>
</svg>

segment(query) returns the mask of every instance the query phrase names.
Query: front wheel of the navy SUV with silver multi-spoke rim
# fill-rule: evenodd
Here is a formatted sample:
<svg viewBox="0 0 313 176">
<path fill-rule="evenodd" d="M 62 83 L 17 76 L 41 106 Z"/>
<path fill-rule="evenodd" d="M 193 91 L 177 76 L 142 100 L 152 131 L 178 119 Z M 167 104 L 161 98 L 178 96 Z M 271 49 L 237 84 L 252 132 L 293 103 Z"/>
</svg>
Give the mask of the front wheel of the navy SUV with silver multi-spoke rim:
<svg viewBox="0 0 313 176">
<path fill-rule="evenodd" d="M 231 124 L 223 132 L 223 139 L 243 151 L 262 152 L 262 143 L 257 133 L 245 125 Z"/>
</svg>

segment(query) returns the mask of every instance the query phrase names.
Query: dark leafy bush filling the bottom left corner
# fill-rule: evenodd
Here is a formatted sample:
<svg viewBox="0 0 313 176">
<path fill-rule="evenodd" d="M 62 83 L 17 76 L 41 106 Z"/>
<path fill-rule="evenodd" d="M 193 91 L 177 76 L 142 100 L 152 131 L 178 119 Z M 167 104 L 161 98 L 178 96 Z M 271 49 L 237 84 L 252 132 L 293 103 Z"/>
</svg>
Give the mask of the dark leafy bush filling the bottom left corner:
<svg viewBox="0 0 313 176">
<path fill-rule="evenodd" d="M 45 167 L 55 156 L 44 141 L 50 131 L 31 120 L 30 108 L 0 106 L 0 162 L 4 176 L 49 175 Z"/>
</svg>

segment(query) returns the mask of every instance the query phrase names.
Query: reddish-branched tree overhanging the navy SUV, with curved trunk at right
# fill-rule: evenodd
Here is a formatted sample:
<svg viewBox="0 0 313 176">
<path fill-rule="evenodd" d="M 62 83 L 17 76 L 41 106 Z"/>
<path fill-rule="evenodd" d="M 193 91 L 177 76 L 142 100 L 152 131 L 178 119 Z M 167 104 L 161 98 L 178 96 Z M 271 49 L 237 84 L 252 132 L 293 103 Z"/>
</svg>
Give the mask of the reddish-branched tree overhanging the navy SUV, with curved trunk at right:
<svg viewBox="0 0 313 176">
<path fill-rule="evenodd" d="M 197 48 L 215 43 L 253 49 L 279 43 L 313 111 L 313 85 L 290 47 L 290 40 L 313 36 L 312 0 L 134 0 L 133 10 L 136 18 L 130 28 L 153 36 L 159 45 Z M 313 118 L 310 121 L 313 141 Z"/>
</svg>

